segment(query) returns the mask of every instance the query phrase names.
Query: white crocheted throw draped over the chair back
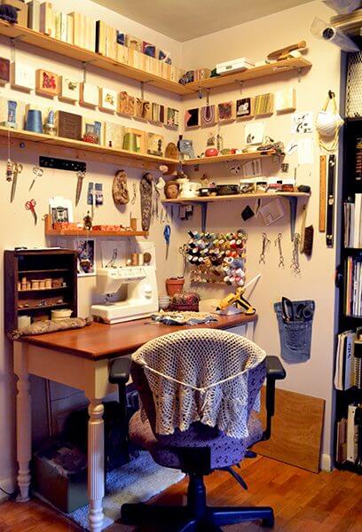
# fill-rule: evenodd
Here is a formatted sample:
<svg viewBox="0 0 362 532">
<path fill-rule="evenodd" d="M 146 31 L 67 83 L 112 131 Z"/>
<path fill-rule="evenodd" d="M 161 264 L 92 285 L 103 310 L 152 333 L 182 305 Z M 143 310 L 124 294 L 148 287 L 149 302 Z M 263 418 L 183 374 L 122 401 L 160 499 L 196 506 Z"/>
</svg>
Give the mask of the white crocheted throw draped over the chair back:
<svg viewBox="0 0 362 532">
<path fill-rule="evenodd" d="M 234 438 L 248 437 L 248 370 L 264 358 L 251 340 L 206 328 L 165 334 L 132 356 L 153 394 L 157 434 L 201 421 Z"/>
</svg>

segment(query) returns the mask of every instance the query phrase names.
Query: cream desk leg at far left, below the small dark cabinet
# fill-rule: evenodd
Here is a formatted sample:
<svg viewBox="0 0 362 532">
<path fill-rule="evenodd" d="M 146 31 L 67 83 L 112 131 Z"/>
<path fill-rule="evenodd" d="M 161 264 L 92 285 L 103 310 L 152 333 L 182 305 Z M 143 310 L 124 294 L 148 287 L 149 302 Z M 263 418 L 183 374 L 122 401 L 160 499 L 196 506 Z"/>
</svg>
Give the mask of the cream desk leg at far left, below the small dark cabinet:
<svg viewBox="0 0 362 532">
<path fill-rule="evenodd" d="M 24 351 L 17 353 L 15 372 L 18 376 L 16 398 L 16 432 L 17 432 L 17 454 L 19 462 L 18 484 L 20 496 L 18 501 L 25 503 L 29 500 L 30 469 L 31 459 L 31 398 L 30 384 L 27 368 L 27 357 Z"/>
</svg>

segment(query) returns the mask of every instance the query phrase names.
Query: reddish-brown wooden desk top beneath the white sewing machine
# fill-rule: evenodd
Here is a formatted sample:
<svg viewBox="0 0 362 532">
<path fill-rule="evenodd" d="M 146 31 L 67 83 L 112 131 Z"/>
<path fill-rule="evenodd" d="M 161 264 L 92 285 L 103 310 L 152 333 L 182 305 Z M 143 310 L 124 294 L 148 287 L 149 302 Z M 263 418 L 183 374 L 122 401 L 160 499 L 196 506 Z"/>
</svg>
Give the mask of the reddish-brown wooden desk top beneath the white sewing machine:
<svg viewBox="0 0 362 532">
<path fill-rule="evenodd" d="M 40 348 L 55 349 L 75 356 L 91 358 L 91 360 L 100 360 L 102 358 L 129 355 L 148 340 L 153 340 L 169 332 L 195 327 L 231 329 L 238 325 L 256 321 L 256 319 L 256 314 L 254 316 L 236 314 L 234 316 L 219 316 L 217 322 L 209 325 L 202 324 L 188 327 L 185 325 L 158 324 L 147 317 L 116 325 L 93 323 L 83 329 L 24 336 L 16 341 Z"/>
</svg>

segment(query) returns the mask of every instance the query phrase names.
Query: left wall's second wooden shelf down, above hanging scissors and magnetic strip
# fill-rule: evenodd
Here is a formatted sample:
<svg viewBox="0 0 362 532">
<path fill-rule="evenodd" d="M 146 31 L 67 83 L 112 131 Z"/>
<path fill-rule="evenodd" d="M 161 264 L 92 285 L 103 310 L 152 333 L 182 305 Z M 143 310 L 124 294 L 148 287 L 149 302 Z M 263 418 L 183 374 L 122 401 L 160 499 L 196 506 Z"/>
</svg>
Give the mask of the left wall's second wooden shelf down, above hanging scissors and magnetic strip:
<svg viewBox="0 0 362 532">
<path fill-rule="evenodd" d="M 158 168 L 161 164 L 168 166 L 178 164 L 178 160 L 166 157 L 129 152 L 127 150 L 114 150 L 113 148 L 83 142 L 82 140 L 52 137 L 51 135 L 25 131 L 24 129 L 8 129 L 0 126 L 0 145 L 3 147 L 7 145 L 9 133 L 12 146 L 28 148 L 38 152 L 43 152 L 45 147 L 51 146 L 53 148 L 61 148 L 61 152 L 64 155 L 63 148 L 69 148 L 76 152 L 78 159 L 87 158 L 98 162 L 113 162 L 147 169 Z M 22 146 L 21 143 L 24 143 L 25 146 Z"/>
</svg>

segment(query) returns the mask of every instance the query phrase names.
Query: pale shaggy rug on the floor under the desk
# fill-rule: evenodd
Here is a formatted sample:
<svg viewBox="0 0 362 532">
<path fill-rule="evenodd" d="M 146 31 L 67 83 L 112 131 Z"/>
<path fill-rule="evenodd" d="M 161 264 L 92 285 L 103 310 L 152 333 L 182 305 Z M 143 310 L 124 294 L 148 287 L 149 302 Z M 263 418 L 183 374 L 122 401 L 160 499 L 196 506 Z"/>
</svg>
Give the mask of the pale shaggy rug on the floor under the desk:
<svg viewBox="0 0 362 532">
<path fill-rule="evenodd" d="M 185 474 L 177 469 L 162 467 L 153 462 L 151 455 L 146 451 L 140 452 L 138 458 L 134 458 L 129 464 L 107 473 L 106 497 L 103 499 L 105 512 L 103 529 L 120 518 L 121 506 L 125 503 L 146 503 L 184 477 Z M 67 517 L 85 530 L 89 530 L 88 512 L 87 505 L 68 513 Z"/>
</svg>

